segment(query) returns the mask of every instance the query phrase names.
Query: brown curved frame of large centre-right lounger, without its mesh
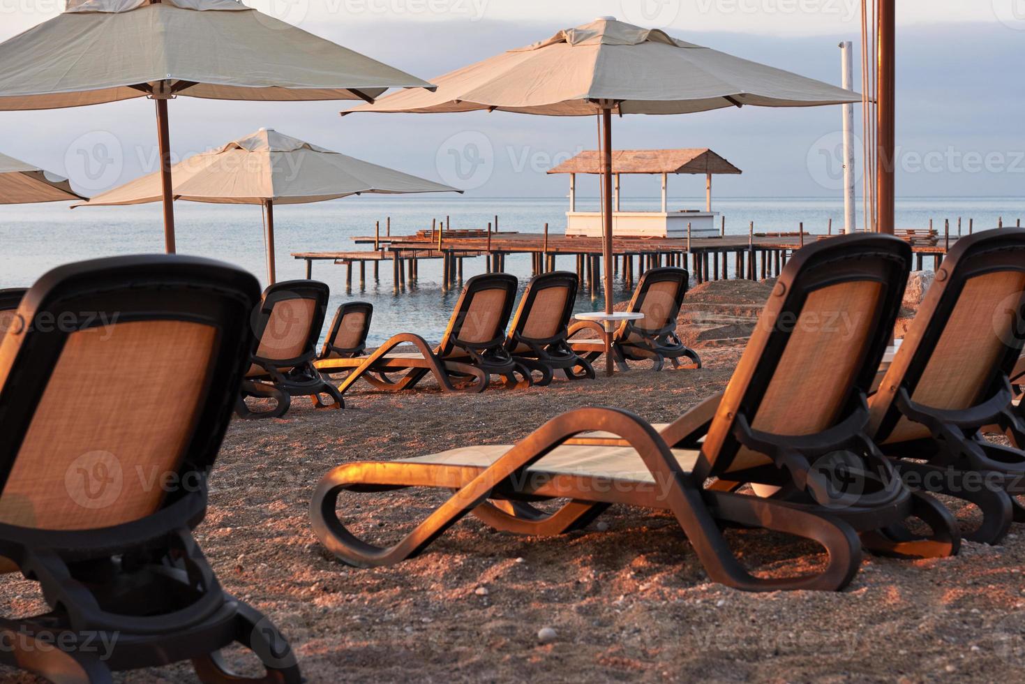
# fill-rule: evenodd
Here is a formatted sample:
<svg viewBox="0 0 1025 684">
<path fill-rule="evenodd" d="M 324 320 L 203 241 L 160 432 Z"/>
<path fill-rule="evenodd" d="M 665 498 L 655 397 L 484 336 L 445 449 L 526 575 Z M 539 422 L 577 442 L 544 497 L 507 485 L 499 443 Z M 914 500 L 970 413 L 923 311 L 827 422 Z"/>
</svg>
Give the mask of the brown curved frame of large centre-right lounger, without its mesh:
<svg viewBox="0 0 1025 684">
<path fill-rule="evenodd" d="M 780 276 L 776 296 L 764 314 L 768 320 L 780 323 L 755 332 L 749 352 L 724 395 L 689 411 L 661 433 L 626 411 L 586 408 L 549 420 L 509 446 L 488 467 L 415 461 L 340 466 L 324 477 L 314 494 L 314 531 L 340 560 L 374 566 L 421 553 L 467 513 L 499 529 L 559 534 L 586 524 L 612 504 L 663 509 L 673 513 L 713 580 L 750 591 L 842 589 L 860 562 L 858 532 L 877 553 L 902 557 L 956 553 L 959 537 L 952 533 L 949 512 L 929 496 L 905 489 L 889 459 L 865 434 L 865 395 L 886 351 L 910 257 L 910 249 L 902 241 L 880 236 L 837 238 L 795 254 Z M 883 295 L 842 414 L 823 432 L 801 437 L 751 429 L 761 397 L 792 332 L 782 325 L 785 317 L 779 315 L 799 312 L 814 289 L 847 280 L 880 282 Z M 546 472 L 543 457 L 563 444 L 631 447 L 659 487 L 612 477 Z M 700 449 L 693 472 L 681 469 L 670 447 Z M 771 462 L 731 471 L 733 457 L 742 447 L 766 454 Z M 829 487 L 830 478 L 837 474 L 829 471 L 823 460 L 838 450 L 852 452 L 859 459 L 861 467 L 856 474 L 861 488 L 856 494 L 835 499 Z M 709 478 L 717 478 L 717 484 L 706 487 Z M 773 485 L 778 491 L 771 497 L 738 494 L 735 490 L 740 482 Z M 356 537 L 338 517 L 342 491 L 405 487 L 433 487 L 455 493 L 413 531 L 387 548 Z M 570 502 L 550 515 L 531 506 L 532 501 L 555 498 L 569 498 Z M 890 529 L 908 516 L 925 520 L 932 535 L 912 537 L 903 530 Z M 829 562 L 825 570 L 811 576 L 755 577 L 726 545 L 720 523 L 763 527 L 814 539 L 826 549 Z"/>
</svg>

